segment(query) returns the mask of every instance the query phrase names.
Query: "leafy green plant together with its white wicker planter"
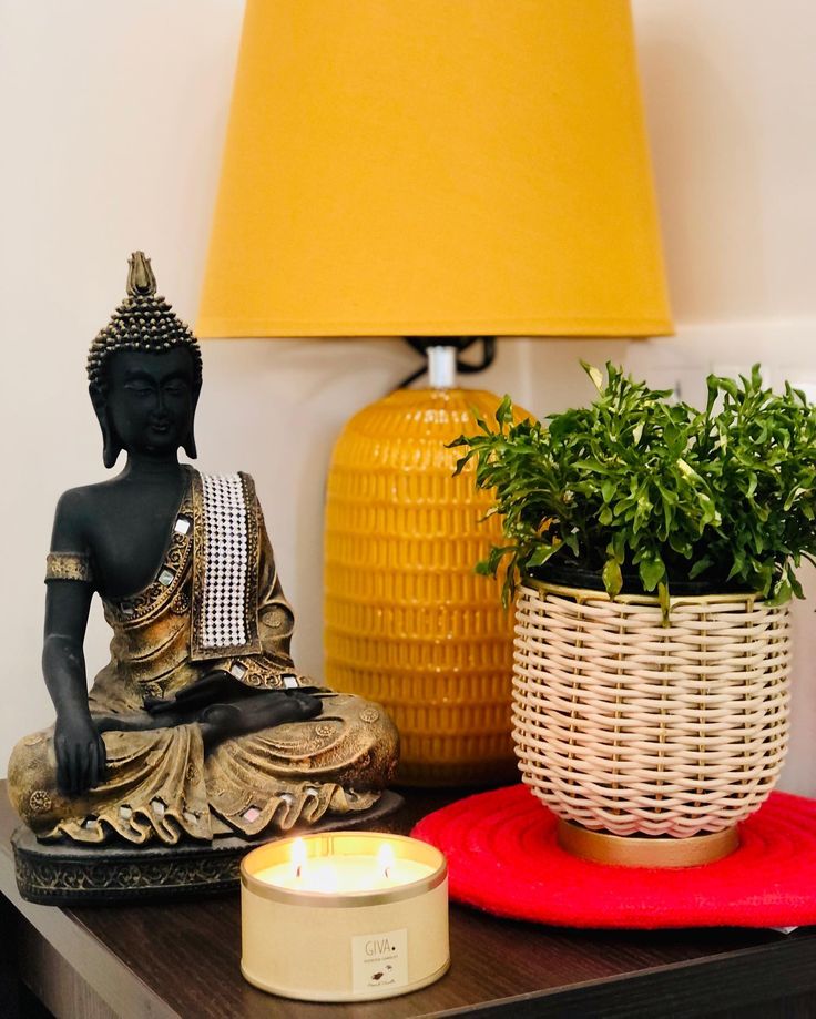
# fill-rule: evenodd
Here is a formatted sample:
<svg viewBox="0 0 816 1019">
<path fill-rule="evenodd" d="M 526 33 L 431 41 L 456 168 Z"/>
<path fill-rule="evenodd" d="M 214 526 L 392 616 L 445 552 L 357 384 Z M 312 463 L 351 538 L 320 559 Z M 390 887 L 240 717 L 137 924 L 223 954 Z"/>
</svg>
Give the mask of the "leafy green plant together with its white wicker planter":
<svg viewBox="0 0 816 1019">
<path fill-rule="evenodd" d="M 584 369 L 591 406 L 544 427 L 514 422 L 506 397 L 494 428 L 477 419 L 453 444 L 502 521 L 477 570 L 503 568 L 506 603 L 518 589 L 519 765 L 575 852 L 716 858 L 787 745 L 787 602 L 816 556 L 816 414 L 790 386 L 764 388 L 758 367 L 711 376 L 704 410 L 612 365 L 605 380 Z M 651 838 L 645 857 L 632 836 Z"/>
</svg>

